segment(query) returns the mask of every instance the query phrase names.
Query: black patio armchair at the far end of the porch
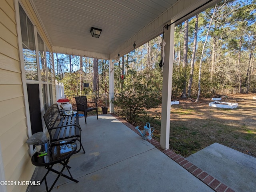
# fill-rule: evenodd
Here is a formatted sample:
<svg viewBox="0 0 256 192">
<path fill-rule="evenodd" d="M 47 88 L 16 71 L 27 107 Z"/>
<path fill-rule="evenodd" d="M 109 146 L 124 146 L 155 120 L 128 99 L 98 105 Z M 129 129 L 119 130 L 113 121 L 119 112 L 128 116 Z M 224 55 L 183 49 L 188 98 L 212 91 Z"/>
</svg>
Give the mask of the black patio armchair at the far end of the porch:
<svg viewBox="0 0 256 192">
<path fill-rule="evenodd" d="M 86 124 L 87 112 L 96 110 L 97 119 L 98 119 L 98 105 L 97 105 L 97 102 L 87 101 L 86 96 L 77 96 L 77 97 L 75 97 L 75 99 L 76 99 L 76 107 L 77 107 L 76 110 L 84 112 L 85 124 Z M 88 107 L 88 103 L 93 103 L 95 105 L 95 107 Z"/>
</svg>

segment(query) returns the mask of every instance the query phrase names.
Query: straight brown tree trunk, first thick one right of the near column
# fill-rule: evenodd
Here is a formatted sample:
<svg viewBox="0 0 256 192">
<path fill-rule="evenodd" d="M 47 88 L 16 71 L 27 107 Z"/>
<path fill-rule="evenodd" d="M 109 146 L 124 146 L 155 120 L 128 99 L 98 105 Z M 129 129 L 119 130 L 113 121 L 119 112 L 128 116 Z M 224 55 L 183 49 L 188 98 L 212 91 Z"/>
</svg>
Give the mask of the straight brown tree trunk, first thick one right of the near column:
<svg viewBox="0 0 256 192">
<path fill-rule="evenodd" d="M 182 60 L 184 80 L 182 82 L 183 91 L 182 91 L 181 98 L 187 98 L 186 96 L 187 60 L 188 60 L 188 20 L 186 20 L 184 23 L 184 44 L 183 44 L 183 60 Z"/>
</svg>

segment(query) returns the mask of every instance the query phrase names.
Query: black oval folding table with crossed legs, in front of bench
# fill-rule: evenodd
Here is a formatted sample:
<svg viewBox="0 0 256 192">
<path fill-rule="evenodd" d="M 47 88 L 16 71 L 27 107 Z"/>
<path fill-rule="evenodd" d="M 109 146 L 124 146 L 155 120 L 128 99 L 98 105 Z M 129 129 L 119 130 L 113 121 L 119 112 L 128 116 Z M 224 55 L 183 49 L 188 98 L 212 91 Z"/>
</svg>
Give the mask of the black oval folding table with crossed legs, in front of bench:
<svg viewBox="0 0 256 192">
<path fill-rule="evenodd" d="M 46 168 L 48 170 L 40 182 L 40 183 L 42 183 L 43 181 L 45 182 L 47 192 L 50 192 L 52 190 L 52 188 L 54 187 L 54 185 L 56 184 L 56 182 L 60 176 L 68 178 L 76 183 L 78 182 L 78 180 L 75 180 L 72 177 L 70 170 L 69 170 L 71 167 L 68 166 L 68 160 L 72 156 L 72 154 L 74 154 L 76 152 L 76 148 L 77 148 L 77 144 L 74 141 L 60 141 L 60 142 L 56 142 L 56 143 L 52 144 L 52 146 L 50 147 L 50 149 L 47 152 L 47 155 L 38 157 L 38 155 L 40 155 L 40 154 L 36 152 L 32 156 L 31 161 L 32 161 L 33 165 L 44 166 L 44 168 Z M 63 165 L 62 170 L 57 171 L 52 168 L 52 166 L 54 166 L 54 164 L 57 164 L 57 163 L 60 163 Z M 68 170 L 70 176 L 62 173 L 65 168 Z M 58 174 L 58 176 L 55 179 L 55 181 L 53 182 L 50 189 L 48 189 L 46 176 L 48 175 L 48 173 L 50 171 Z"/>
</svg>

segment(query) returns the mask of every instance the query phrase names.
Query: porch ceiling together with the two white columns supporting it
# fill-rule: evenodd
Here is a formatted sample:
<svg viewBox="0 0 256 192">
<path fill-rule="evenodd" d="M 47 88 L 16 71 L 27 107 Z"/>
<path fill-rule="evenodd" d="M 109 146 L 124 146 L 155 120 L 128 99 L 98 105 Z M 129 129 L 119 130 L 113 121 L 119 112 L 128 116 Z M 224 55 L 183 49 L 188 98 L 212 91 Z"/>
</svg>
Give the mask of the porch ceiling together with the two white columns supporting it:
<svg viewBox="0 0 256 192">
<path fill-rule="evenodd" d="M 114 63 L 164 32 L 160 145 L 168 149 L 174 27 L 220 0 L 30 2 L 45 26 L 53 52 L 109 60 L 111 113 L 114 113 Z M 92 37 L 92 28 L 101 31 L 98 38 Z"/>
</svg>

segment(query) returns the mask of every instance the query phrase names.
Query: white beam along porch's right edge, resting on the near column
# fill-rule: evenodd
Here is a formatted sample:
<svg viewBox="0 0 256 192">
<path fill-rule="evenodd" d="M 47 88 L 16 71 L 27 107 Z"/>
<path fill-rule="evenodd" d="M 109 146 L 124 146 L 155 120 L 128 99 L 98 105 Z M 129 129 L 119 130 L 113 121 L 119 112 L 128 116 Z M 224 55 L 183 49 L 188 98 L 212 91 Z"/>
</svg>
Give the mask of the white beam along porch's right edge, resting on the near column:
<svg viewBox="0 0 256 192">
<path fill-rule="evenodd" d="M 202 12 L 206 8 L 220 2 L 220 0 L 179 0 L 172 7 L 168 8 L 158 18 L 150 22 L 147 26 L 142 28 L 132 38 L 124 42 L 112 54 L 110 59 L 115 59 L 118 56 L 123 56 L 132 51 L 135 42 L 136 48 L 142 46 L 146 42 L 152 40 L 156 36 L 162 34 L 163 26 L 170 24 L 170 20 L 174 21 L 176 25 L 191 18 L 192 16 Z"/>
</svg>

